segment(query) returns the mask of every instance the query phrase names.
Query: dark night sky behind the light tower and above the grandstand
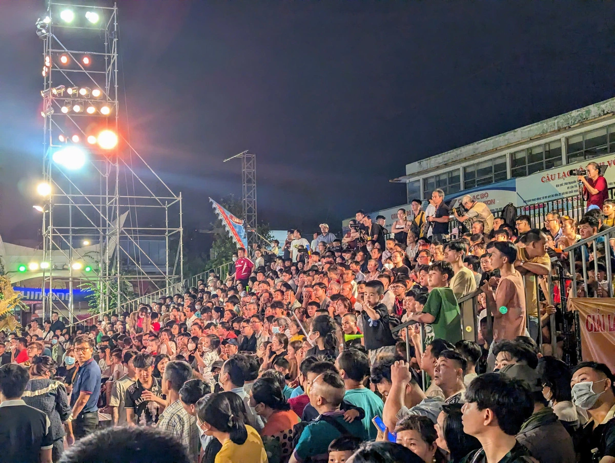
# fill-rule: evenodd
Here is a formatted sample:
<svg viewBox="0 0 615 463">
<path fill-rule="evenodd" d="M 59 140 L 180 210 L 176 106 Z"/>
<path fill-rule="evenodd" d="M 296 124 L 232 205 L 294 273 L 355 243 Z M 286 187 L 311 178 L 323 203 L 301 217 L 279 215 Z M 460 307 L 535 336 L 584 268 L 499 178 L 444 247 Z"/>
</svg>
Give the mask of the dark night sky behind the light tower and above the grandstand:
<svg viewBox="0 0 615 463">
<path fill-rule="evenodd" d="M 130 140 L 185 197 L 333 229 L 405 202 L 405 164 L 613 97 L 609 2 L 119 1 Z M 42 0 L 0 0 L 0 233 L 36 238 Z M 125 113 L 123 114 L 123 116 Z"/>
</svg>

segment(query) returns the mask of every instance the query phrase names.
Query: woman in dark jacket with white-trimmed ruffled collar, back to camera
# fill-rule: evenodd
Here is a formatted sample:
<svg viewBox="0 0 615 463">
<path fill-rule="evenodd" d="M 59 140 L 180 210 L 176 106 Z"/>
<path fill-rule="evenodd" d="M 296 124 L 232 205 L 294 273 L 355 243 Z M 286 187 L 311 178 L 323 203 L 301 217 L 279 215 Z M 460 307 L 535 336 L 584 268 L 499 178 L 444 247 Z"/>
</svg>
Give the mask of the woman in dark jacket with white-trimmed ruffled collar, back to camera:
<svg viewBox="0 0 615 463">
<path fill-rule="evenodd" d="M 71 407 L 68 404 L 63 382 L 52 379 L 56 365 L 57 363 L 47 355 L 34 357 L 30 366 L 30 381 L 28 381 L 26 390 L 22 395 L 26 405 L 43 411 L 49 417 L 51 433 L 54 438 L 53 461 L 58 461 L 64 451 L 65 432 L 62 423 L 66 422 L 71 414 Z M 72 432 L 70 422 L 68 422 L 68 426 Z"/>
</svg>

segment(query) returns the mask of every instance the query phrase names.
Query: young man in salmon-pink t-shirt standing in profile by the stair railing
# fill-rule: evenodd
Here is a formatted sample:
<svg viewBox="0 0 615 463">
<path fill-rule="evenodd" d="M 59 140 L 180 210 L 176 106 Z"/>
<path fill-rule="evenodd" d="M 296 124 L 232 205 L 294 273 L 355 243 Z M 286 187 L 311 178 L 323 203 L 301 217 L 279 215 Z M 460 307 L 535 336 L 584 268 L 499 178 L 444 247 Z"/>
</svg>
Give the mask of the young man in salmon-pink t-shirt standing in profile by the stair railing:
<svg viewBox="0 0 615 463">
<path fill-rule="evenodd" d="M 495 356 L 493 345 L 501 339 L 515 339 L 525 332 L 525 290 L 521 274 L 515 270 L 517 248 L 508 241 L 496 241 L 491 248 L 491 264 L 501 278 L 495 294 L 491 282 L 482 286 L 485 291 L 487 311 L 493 315 L 493 342 L 487 358 L 488 371 L 493 371 Z"/>
</svg>

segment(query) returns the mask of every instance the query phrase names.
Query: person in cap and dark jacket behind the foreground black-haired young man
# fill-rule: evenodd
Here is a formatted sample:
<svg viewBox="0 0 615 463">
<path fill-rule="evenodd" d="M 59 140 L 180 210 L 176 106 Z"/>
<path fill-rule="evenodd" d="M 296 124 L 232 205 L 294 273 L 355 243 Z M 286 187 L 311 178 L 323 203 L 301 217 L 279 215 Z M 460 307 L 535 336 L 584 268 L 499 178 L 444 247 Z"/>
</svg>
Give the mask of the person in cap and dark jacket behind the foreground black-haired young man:
<svg viewBox="0 0 615 463">
<path fill-rule="evenodd" d="M 518 443 L 525 445 L 541 463 L 573 463 L 576 461 L 573 440 L 542 394 L 541 379 L 529 365 L 506 365 L 501 374 L 522 379 L 530 386 L 534 398 L 534 413 L 517 433 Z"/>
</svg>

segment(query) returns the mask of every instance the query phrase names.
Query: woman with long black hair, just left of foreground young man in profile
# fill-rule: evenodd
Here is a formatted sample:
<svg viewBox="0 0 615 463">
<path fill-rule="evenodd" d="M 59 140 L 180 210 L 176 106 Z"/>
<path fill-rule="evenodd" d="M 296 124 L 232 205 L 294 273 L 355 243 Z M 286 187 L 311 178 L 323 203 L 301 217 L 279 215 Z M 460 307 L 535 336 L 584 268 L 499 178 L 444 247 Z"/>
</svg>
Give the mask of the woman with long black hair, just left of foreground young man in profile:
<svg viewBox="0 0 615 463">
<path fill-rule="evenodd" d="M 442 450 L 448 452 L 451 463 L 459 463 L 472 450 L 480 448 L 480 442 L 474 436 L 466 434 L 461 422 L 461 403 L 442 405 L 438 415 L 435 430 L 438 438 L 435 443 Z"/>
</svg>

